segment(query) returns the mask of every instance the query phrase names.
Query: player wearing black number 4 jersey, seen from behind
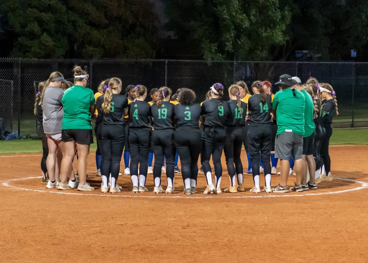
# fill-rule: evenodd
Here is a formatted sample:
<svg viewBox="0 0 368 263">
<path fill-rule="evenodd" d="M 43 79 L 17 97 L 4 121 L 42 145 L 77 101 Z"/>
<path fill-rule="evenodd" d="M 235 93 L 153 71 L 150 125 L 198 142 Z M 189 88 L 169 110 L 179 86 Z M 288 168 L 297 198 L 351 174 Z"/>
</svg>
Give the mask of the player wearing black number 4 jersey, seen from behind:
<svg viewBox="0 0 368 263">
<path fill-rule="evenodd" d="M 134 88 L 136 98 L 128 106 L 129 132 L 128 145 L 131 152 L 130 158 L 130 178 L 133 184 L 133 193 L 148 192 L 145 187 L 148 154 L 150 145 L 151 125 L 151 106 L 145 102 L 147 88 L 143 85 L 137 85 Z M 148 140 L 147 140 L 148 138 Z M 138 187 L 138 163 L 139 163 L 139 187 Z"/>
</svg>

